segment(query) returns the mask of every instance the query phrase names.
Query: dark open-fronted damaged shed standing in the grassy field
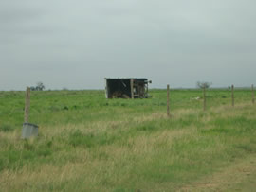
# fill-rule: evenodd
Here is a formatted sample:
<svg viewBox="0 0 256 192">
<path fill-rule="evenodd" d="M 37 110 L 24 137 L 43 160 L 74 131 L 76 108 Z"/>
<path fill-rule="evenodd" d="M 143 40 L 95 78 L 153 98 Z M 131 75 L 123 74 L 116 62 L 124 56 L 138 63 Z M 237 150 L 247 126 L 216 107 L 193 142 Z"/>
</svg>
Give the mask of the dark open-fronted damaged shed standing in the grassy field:
<svg viewBox="0 0 256 192">
<path fill-rule="evenodd" d="M 108 79 L 106 78 L 106 98 L 147 98 L 148 79 Z"/>
</svg>

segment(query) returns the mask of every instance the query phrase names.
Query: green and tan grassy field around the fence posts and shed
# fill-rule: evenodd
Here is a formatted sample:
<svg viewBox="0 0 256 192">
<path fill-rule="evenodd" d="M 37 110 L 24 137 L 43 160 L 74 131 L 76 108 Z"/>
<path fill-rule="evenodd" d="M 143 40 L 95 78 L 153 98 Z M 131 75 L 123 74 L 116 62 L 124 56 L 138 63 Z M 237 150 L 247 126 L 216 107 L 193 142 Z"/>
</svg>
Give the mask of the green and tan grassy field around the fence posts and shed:
<svg viewBox="0 0 256 192">
<path fill-rule="evenodd" d="M 105 99 L 103 91 L 0 92 L 0 191 L 253 191 L 256 104 L 249 90 L 166 91 Z"/>
</svg>

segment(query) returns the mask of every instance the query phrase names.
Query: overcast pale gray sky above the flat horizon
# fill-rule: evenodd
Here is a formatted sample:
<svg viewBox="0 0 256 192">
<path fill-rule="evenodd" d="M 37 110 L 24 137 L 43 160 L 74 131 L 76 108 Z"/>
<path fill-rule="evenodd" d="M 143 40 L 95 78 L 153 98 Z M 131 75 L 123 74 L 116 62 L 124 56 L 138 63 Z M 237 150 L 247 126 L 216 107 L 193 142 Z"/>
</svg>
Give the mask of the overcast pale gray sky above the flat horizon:
<svg viewBox="0 0 256 192">
<path fill-rule="evenodd" d="M 256 84 L 255 0 L 0 0 L 0 90 Z"/>
</svg>

